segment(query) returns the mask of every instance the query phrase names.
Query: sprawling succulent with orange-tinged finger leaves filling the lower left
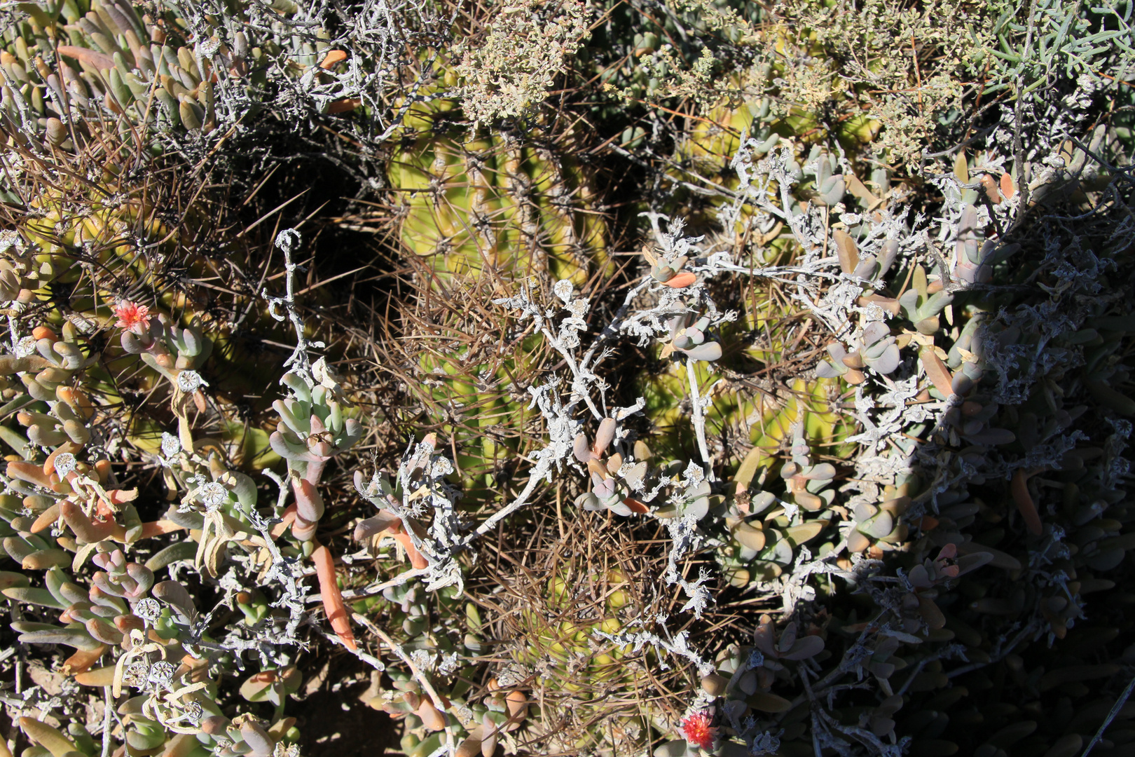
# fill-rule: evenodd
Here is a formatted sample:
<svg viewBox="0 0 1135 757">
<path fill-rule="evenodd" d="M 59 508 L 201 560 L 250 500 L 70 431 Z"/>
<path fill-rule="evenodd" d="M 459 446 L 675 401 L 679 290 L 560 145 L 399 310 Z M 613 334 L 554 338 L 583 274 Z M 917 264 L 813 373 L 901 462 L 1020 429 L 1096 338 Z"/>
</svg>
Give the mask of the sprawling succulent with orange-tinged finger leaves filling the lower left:
<svg viewBox="0 0 1135 757">
<path fill-rule="evenodd" d="M 204 394 L 208 384 L 196 371 L 203 367 L 211 340 L 199 320 L 182 328 L 165 313 L 151 314 L 149 308 L 127 300 L 118 300 L 111 311 L 116 325 L 124 329 L 125 356 L 116 359 L 152 370 L 155 381 L 151 388 L 168 387 L 178 419 L 178 434 L 166 435 L 155 457 L 170 495 L 179 496 L 180 503 L 165 518 L 144 521 L 137 507 L 138 489 L 124 487 L 112 464 L 123 454 L 121 441 L 136 437 L 127 430 L 131 419 L 124 413 L 120 387 L 107 371 L 108 361 L 93 348 L 99 337 L 91 333 L 99 323 L 110 323 L 111 318 L 103 314 L 108 309 L 91 305 L 86 311 L 90 316 L 77 316 L 68 306 L 76 300 L 56 298 L 57 287 L 62 286 L 78 292 L 81 301 L 85 285 L 82 277 L 72 276 L 59 264 L 70 254 L 67 247 L 49 237 L 33 238 L 31 245 L 20 239 L 17 247 L 37 245 L 40 253 L 22 259 L 20 251 L 12 249 L 15 256 L 9 260 L 17 264 L 39 261 L 43 276 L 26 279 L 22 286 L 34 287 L 27 289 L 32 297 L 17 292 L 16 300 L 23 305 L 47 302 L 47 306 L 25 314 L 17 305 L 10 313 L 14 343 L 6 345 L 11 354 L 0 358 L 2 392 L 11 419 L 2 438 L 19 453 L 9 455 L 5 470 L 0 536 L 6 555 L 26 573 L 6 573 L 3 588 L 12 602 L 32 607 L 30 616 L 16 613 L 14 629 L 22 644 L 73 647 L 62 670 L 82 684 L 118 689 L 125 680 L 143 689 L 142 696 L 119 703 L 124 725 L 114 739 L 132 750 L 175 746 L 180 754 L 294 750 L 289 746 L 296 739 L 294 718 L 284 718 L 281 708 L 262 724 L 250 715 L 233 724 L 221 715 L 217 701 L 227 695 L 221 695 L 219 672 L 230 667 L 234 655 L 239 656 L 247 646 L 217 645 L 208 631 L 203 638 L 202 630 L 193 625 L 197 617 L 188 590 L 154 575 L 174 563 L 188 562 L 207 580 L 213 579 L 222 573 L 233 553 L 266 570 L 274 561 L 283 561 L 283 553 L 293 560 L 302 557 L 301 547 L 272 542 L 268 530 L 271 519 L 284 513 L 277 512 L 278 507 L 258 508 L 257 486 L 222 462 L 221 443 L 204 438 L 196 428 L 215 412 Z M 127 256 L 125 267 L 136 262 Z M 107 263 L 111 269 L 124 264 L 115 255 Z M 28 269 L 25 266 L 23 270 Z M 144 271 L 144 266 L 138 270 Z M 101 293 L 96 287 L 93 293 L 98 302 Z M 41 325 L 31 336 L 19 338 L 24 323 L 42 312 L 50 317 L 59 311 L 72 316 L 62 319 L 61 329 Z M 127 459 L 132 455 L 136 453 L 126 453 Z M 154 539 L 163 542 L 153 546 Z M 149 560 L 134 552 L 151 547 Z M 45 571 L 43 588 L 30 580 L 33 571 Z M 279 602 L 281 594 L 297 596 L 294 577 L 281 579 L 281 583 L 283 588 L 266 584 L 267 595 L 236 592 L 234 609 L 239 607 L 246 621 L 238 637 L 242 632 L 262 636 L 272 628 L 284 631 L 277 633 L 278 639 L 294 639 L 294 628 L 288 632 L 285 626 L 293 621 L 299 625 L 302 604 L 294 617 L 269 606 L 269 600 Z M 155 599 L 179 609 L 162 612 Z M 47 622 L 53 619 L 44 617 L 44 612 L 51 611 L 62 611 L 58 622 Z M 151 634 L 149 640 L 143 631 Z M 203 647 L 196 646 L 202 642 Z M 182 661 L 180 667 L 166 662 L 169 655 Z M 100 661 L 103 666 L 95 667 Z M 266 664 L 257 674 L 260 682 L 275 680 L 272 670 L 276 667 Z M 294 690 L 296 683 L 293 671 L 281 685 Z M 254 696 L 260 696 L 257 692 L 262 688 L 245 687 Z M 280 699 L 279 692 L 271 696 Z M 37 743 L 54 747 L 59 742 L 53 739 L 74 739 L 82 754 L 96 754 L 83 746 L 86 742 L 79 730 L 73 727 L 64 734 L 34 727 L 25 723 L 25 731 Z M 107 738 L 111 743 L 109 733 Z"/>
</svg>

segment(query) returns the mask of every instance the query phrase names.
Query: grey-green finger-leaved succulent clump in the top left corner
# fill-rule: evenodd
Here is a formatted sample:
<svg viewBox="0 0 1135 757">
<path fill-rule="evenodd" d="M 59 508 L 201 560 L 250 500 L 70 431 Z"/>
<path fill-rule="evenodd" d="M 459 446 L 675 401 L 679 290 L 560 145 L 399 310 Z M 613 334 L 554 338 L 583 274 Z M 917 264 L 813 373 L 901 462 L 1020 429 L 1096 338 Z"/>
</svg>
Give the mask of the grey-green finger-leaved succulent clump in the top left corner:
<svg viewBox="0 0 1135 757">
<path fill-rule="evenodd" d="M 278 79 L 288 77 L 308 83 L 320 112 L 360 103 L 346 96 L 358 92 L 342 86 L 351 78 L 344 75 L 351 56 L 334 47 L 326 28 L 305 40 L 286 32 L 287 20 L 305 20 L 288 0 L 263 10 L 251 3 L 155 9 L 106 0 L 27 3 L 24 10 L 30 17 L 6 31 L 0 61 L 10 83 L 2 108 L 10 126 L 26 129 L 22 140 L 34 135 L 72 150 L 76 140 L 91 138 L 85 121 L 108 115 L 155 131 L 208 134 L 230 126 L 235 112 L 255 115 L 271 103 Z M 352 43 L 359 44 L 356 56 L 367 54 L 363 40 Z"/>
</svg>

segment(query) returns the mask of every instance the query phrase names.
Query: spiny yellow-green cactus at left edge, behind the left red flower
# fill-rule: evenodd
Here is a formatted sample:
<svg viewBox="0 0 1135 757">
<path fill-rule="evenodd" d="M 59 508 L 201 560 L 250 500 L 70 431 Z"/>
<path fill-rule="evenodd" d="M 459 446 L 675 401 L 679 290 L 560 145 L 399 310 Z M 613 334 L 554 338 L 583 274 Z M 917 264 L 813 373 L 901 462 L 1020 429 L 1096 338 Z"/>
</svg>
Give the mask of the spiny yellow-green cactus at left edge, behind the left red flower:
<svg viewBox="0 0 1135 757">
<path fill-rule="evenodd" d="M 100 328 L 126 328 L 121 347 L 115 339 L 89 371 L 86 390 L 107 405 L 124 396 L 129 403 L 135 392 L 165 394 L 166 384 L 175 413 L 193 406 L 205 412 L 204 397 L 178 387 L 177 375 L 196 375 L 201 387 L 219 379 L 209 414 L 220 411 L 221 437 L 241 448 L 243 465 L 270 464 L 268 434 L 259 428 L 270 396 L 245 413 L 252 415 L 247 427 L 237 421 L 236 406 L 264 388 L 264 356 L 243 354 L 234 334 L 241 319 L 225 318 L 228 308 L 244 309 L 244 328 L 276 329 L 268 309 L 237 280 L 242 264 L 257 264 L 255 242 L 226 230 L 227 212 L 218 215 L 212 193 L 183 194 L 193 191 L 184 167 L 167 161 L 157 182 L 157 167 L 129 168 L 137 155 L 121 137 L 95 134 L 98 142 L 74 152 L 11 151 L 23 170 L 0 178 L 10 192 L 0 217 L 14 227 L 0 245 L 0 269 L 8 271 L 0 294 L 11 295 L 9 314 L 31 311 L 56 333 L 62 326 L 95 342 Z M 226 281 L 230 301 L 197 286 L 215 277 Z M 165 419 L 132 413 L 126 422 L 132 443 L 157 446 Z"/>
</svg>

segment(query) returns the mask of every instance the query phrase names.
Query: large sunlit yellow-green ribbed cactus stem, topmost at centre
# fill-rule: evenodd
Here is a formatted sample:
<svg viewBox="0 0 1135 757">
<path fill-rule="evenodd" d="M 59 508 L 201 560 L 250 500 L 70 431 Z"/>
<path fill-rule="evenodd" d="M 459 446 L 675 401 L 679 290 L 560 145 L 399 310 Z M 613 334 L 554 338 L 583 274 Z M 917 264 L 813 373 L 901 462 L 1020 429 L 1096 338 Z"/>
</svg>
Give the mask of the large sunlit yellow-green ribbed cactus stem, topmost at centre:
<svg viewBox="0 0 1135 757">
<path fill-rule="evenodd" d="M 456 103 L 415 103 L 387 173 L 402 243 L 437 280 L 495 274 L 585 284 L 606 271 L 606 222 L 595 179 L 570 151 L 578 136 L 471 131 Z"/>
</svg>

